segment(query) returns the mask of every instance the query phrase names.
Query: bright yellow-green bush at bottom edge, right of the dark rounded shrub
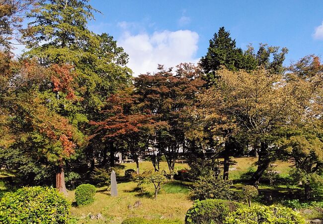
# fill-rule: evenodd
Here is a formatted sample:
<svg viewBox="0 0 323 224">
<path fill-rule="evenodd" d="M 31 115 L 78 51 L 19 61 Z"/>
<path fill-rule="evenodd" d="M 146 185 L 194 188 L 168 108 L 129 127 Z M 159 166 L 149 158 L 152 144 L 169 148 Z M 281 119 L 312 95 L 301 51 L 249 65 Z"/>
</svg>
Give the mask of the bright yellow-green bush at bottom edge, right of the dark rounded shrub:
<svg viewBox="0 0 323 224">
<path fill-rule="evenodd" d="M 287 207 L 254 205 L 230 213 L 224 224 L 305 224 L 305 220 Z"/>
</svg>

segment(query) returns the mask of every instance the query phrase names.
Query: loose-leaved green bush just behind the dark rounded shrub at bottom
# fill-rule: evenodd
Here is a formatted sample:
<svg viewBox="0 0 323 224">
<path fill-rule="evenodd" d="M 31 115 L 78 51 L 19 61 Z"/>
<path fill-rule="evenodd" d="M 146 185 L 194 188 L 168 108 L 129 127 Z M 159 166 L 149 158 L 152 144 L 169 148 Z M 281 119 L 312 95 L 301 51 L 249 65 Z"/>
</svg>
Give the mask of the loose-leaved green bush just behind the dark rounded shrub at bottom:
<svg viewBox="0 0 323 224">
<path fill-rule="evenodd" d="M 219 176 L 200 176 L 191 189 L 193 199 L 226 199 L 232 198 L 230 180 L 223 180 Z"/>
</svg>

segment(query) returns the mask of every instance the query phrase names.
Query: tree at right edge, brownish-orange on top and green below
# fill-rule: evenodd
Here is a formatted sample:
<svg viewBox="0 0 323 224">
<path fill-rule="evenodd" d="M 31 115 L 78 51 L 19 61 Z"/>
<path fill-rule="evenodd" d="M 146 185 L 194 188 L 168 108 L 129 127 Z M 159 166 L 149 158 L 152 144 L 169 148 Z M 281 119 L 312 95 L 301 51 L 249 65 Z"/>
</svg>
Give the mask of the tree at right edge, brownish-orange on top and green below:
<svg viewBox="0 0 323 224">
<path fill-rule="evenodd" d="M 305 197 L 310 199 L 311 192 L 315 192 L 314 185 L 323 186 L 323 65 L 320 58 L 315 55 L 302 58 L 291 65 L 287 78 L 294 87 L 294 97 L 306 113 L 298 126 L 285 132 L 281 149 L 294 161 L 293 176 L 302 181 Z"/>
</svg>

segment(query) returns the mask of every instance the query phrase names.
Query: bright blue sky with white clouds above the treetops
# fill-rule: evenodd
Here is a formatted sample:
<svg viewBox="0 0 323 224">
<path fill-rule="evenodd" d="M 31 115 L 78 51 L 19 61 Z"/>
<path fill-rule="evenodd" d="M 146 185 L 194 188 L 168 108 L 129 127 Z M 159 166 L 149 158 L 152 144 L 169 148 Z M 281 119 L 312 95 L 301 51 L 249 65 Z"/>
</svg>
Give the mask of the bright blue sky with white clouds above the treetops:
<svg viewBox="0 0 323 224">
<path fill-rule="evenodd" d="M 135 75 L 197 62 L 209 39 L 225 26 L 237 46 L 287 47 L 286 65 L 309 54 L 323 56 L 323 0 L 90 0 L 102 14 L 94 32 L 118 40 Z"/>
</svg>

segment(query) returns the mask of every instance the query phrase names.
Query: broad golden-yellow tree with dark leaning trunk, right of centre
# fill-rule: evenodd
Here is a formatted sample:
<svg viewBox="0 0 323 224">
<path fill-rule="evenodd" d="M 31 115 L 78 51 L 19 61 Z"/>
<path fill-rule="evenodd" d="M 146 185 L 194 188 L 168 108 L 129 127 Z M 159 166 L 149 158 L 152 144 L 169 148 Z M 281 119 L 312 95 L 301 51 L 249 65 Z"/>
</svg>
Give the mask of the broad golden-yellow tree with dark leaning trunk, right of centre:
<svg viewBox="0 0 323 224">
<path fill-rule="evenodd" d="M 201 96 L 206 118 L 215 117 L 214 131 L 243 131 L 245 138 L 257 147 L 258 168 L 252 176 L 253 184 L 271 161 L 277 159 L 276 131 L 295 125 L 306 112 L 293 97 L 293 85 L 283 75 L 271 74 L 264 69 L 250 73 L 218 72 L 218 84 Z"/>
</svg>

